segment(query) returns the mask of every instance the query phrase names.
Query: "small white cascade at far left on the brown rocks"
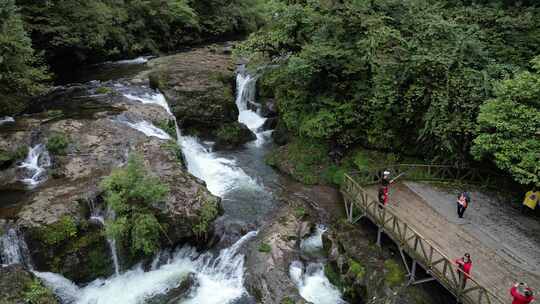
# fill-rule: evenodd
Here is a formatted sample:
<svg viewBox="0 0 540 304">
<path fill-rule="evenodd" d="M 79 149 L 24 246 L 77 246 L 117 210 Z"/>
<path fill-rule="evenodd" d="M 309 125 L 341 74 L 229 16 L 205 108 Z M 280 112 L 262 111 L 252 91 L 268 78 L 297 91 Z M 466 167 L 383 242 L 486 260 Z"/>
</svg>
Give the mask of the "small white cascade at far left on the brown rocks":
<svg viewBox="0 0 540 304">
<path fill-rule="evenodd" d="M 51 158 L 44 144 L 38 144 L 28 149 L 26 159 L 19 165 L 27 173 L 27 178 L 23 183 L 30 187 L 35 187 L 47 179 L 47 168 L 51 166 Z"/>
</svg>

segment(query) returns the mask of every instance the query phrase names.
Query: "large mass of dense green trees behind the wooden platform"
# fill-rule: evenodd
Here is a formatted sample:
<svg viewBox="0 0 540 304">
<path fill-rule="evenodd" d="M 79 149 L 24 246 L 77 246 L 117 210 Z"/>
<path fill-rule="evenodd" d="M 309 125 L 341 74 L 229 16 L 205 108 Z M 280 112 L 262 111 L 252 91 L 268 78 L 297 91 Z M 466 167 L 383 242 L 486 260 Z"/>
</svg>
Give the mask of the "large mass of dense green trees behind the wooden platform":
<svg viewBox="0 0 540 304">
<path fill-rule="evenodd" d="M 540 39 L 534 3 L 474 2 L 276 0 L 238 54 L 272 63 L 260 94 L 296 136 L 469 163 L 480 106 Z"/>
</svg>

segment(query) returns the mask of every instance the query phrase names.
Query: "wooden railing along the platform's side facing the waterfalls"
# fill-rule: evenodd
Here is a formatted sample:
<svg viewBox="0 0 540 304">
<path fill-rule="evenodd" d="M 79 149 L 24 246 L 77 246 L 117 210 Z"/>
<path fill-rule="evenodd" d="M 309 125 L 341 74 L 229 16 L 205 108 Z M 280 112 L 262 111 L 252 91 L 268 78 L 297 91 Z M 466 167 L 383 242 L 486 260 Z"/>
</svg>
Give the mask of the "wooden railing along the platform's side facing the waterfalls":
<svg viewBox="0 0 540 304">
<path fill-rule="evenodd" d="M 396 214 L 379 204 L 377 199 L 365 191 L 351 176 L 345 175 L 341 189 L 345 202 L 347 219 L 354 223 L 361 217 L 369 218 L 382 229 L 398 246 L 428 274 L 439 281 L 459 302 L 467 304 L 504 304 L 474 278 L 469 278 L 466 287 L 462 286 L 461 270 L 441 250 L 423 237 Z M 407 268 L 409 271 L 409 269 Z"/>
</svg>

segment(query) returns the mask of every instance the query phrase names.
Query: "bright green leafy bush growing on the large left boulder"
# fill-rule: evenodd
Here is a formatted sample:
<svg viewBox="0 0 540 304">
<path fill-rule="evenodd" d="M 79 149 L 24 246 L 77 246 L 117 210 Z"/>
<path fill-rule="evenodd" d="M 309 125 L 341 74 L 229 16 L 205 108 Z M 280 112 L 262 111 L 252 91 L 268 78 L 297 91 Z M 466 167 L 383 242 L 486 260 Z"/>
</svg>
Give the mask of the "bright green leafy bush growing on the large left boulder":
<svg viewBox="0 0 540 304">
<path fill-rule="evenodd" d="M 156 253 L 161 227 L 154 209 L 166 198 L 167 185 L 150 175 L 138 156 L 130 155 L 126 167 L 114 170 L 101 187 L 107 206 L 116 214 L 106 225 L 107 235 L 133 254 Z"/>
</svg>

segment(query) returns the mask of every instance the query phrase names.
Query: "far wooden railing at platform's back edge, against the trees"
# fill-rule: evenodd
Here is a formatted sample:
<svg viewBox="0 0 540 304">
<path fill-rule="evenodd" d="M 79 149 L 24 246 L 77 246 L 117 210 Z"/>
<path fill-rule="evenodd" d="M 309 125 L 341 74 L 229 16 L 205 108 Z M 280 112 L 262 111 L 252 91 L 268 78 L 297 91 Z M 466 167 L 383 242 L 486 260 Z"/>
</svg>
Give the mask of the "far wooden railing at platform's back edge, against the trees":
<svg viewBox="0 0 540 304">
<path fill-rule="evenodd" d="M 404 173 L 402 179 L 407 180 L 451 181 L 499 189 L 515 186 L 508 177 L 491 170 L 446 165 L 397 164 L 350 172 L 350 176 L 361 185 L 375 184 L 380 181 L 381 174 L 385 169 L 390 170 L 392 176 Z"/>
</svg>

